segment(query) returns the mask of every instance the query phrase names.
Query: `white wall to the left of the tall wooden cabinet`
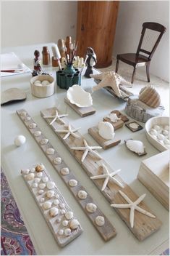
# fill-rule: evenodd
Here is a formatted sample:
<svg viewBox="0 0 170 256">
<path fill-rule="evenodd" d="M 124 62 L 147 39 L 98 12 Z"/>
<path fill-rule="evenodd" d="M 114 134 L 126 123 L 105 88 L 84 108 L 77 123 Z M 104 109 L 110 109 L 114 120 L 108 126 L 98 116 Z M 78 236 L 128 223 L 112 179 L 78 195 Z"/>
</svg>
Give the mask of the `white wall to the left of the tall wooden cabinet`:
<svg viewBox="0 0 170 256">
<path fill-rule="evenodd" d="M 2 1 L 1 47 L 76 36 L 77 1 Z"/>
</svg>

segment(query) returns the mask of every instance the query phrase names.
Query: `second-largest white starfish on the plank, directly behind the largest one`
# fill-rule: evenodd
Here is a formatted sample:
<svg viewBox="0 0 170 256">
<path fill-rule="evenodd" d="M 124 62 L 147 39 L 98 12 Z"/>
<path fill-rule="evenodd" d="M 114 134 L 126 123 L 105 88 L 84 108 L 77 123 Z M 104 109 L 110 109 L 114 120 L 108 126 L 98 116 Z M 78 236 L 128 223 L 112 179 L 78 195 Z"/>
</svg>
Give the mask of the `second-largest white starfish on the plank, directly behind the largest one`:
<svg viewBox="0 0 170 256">
<path fill-rule="evenodd" d="M 102 167 L 103 167 L 103 171 L 105 172 L 105 174 L 103 174 L 103 175 L 96 175 L 96 176 L 90 177 L 91 180 L 105 179 L 104 182 L 103 182 L 103 186 L 101 188 L 101 191 L 105 190 L 106 185 L 109 183 L 109 180 L 113 180 L 114 183 L 119 185 L 121 188 L 124 188 L 124 186 L 121 183 L 119 183 L 119 181 L 116 180 L 116 178 L 114 177 L 118 172 L 120 172 L 121 169 L 118 169 L 115 172 L 109 173 L 106 165 L 102 164 Z"/>
</svg>

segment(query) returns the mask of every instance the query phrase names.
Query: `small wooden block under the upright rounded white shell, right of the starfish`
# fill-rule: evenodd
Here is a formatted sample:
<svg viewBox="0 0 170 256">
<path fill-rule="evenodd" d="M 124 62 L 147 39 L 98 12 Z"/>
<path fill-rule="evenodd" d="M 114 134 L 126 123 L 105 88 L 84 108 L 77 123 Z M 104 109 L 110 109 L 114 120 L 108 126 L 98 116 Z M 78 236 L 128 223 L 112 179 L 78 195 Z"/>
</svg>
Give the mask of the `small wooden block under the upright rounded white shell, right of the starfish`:
<svg viewBox="0 0 170 256">
<path fill-rule="evenodd" d="M 93 137 L 94 140 L 97 141 L 99 145 L 101 145 L 103 149 L 112 148 L 115 145 L 121 143 L 121 140 L 116 140 L 115 137 L 113 140 L 106 140 L 103 137 L 101 137 L 98 133 L 98 127 L 89 128 L 88 133 Z"/>
</svg>

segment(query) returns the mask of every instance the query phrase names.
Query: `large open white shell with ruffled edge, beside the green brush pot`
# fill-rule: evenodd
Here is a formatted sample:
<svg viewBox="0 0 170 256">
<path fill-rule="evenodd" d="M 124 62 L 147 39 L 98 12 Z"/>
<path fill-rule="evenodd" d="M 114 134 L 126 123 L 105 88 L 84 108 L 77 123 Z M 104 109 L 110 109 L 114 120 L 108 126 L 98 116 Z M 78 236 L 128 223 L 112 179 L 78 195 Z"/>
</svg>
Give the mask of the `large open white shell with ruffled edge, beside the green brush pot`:
<svg viewBox="0 0 170 256">
<path fill-rule="evenodd" d="M 85 92 L 80 85 L 75 84 L 67 90 L 67 99 L 70 103 L 77 105 L 79 108 L 90 107 L 93 105 L 93 99 L 89 92 Z"/>
</svg>

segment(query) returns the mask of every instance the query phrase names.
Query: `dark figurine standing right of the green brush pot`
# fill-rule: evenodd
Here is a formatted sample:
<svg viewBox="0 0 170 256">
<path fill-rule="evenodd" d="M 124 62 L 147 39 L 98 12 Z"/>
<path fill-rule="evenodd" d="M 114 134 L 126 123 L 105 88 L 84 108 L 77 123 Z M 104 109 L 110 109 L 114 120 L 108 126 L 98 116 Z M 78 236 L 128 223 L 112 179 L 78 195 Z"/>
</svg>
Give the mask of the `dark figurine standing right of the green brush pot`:
<svg viewBox="0 0 170 256">
<path fill-rule="evenodd" d="M 93 66 L 97 63 L 95 52 L 91 47 L 88 47 L 87 49 L 85 60 L 85 64 L 88 64 L 85 71 L 85 77 L 90 78 L 90 73 L 93 73 Z"/>
</svg>

